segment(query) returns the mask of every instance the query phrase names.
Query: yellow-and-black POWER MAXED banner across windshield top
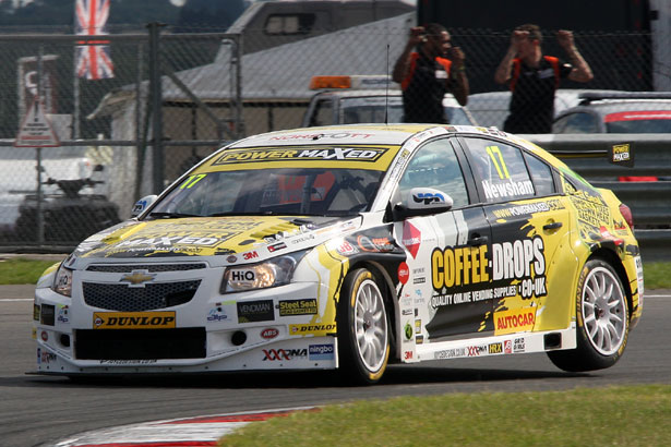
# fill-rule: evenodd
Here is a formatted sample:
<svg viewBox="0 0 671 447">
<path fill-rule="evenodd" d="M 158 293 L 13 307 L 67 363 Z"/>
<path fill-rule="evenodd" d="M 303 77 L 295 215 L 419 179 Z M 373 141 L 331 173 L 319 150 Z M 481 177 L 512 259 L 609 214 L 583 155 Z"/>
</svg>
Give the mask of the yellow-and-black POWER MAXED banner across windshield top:
<svg viewBox="0 0 671 447">
<path fill-rule="evenodd" d="M 229 149 L 224 152 L 212 166 L 278 160 L 376 161 L 385 152 L 386 149 L 381 147 L 336 146 Z"/>
</svg>

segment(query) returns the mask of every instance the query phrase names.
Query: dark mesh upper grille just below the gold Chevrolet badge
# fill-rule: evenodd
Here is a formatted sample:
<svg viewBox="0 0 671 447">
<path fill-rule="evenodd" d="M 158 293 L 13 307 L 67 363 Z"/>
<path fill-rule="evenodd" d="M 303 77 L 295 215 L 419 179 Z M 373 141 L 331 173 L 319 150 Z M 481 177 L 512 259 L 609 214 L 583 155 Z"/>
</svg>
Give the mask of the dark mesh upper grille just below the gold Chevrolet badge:
<svg viewBox="0 0 671 447">
<path fill-rule="evenodd" d="M 191 301 L 201 280 L 156 282 L 145 287 L 125 283 L 84 282 L 84 302 L 93 307 L 118 312 L 142 312 L 172 307 Z"/>
</svg>

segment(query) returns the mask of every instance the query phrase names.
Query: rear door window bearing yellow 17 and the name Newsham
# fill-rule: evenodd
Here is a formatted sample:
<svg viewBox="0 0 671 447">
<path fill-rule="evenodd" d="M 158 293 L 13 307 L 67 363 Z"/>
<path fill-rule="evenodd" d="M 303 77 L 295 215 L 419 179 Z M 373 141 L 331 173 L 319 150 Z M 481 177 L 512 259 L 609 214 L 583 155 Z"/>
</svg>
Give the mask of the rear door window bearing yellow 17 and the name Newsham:
<svg viewBox="0 0 671 447">
<path fill-rule="evenodd" d="M 531 197 L 536 189 L 529 178 L 522 150 L 487 138 L 464 138 L 480 174 L 486 202 L 505 202 Z"/>
</svg>

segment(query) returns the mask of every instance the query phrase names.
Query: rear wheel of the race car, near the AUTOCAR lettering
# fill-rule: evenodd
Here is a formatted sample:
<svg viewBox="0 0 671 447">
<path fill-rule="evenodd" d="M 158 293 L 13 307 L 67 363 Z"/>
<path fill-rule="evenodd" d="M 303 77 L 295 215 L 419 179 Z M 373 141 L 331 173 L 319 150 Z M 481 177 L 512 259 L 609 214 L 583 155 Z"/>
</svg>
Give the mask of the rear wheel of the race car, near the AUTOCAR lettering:
<svg viewBox="0 0 671 447">
<path fill-rule="evenodd" d="M 550 351 L 564 371 L 602 370 L 614 365 L 626 347 L 630 318 L 626 293 L 615 270 L 602 259 L 588 261 L 576 293 L 577 348 Z"/>
</svg>

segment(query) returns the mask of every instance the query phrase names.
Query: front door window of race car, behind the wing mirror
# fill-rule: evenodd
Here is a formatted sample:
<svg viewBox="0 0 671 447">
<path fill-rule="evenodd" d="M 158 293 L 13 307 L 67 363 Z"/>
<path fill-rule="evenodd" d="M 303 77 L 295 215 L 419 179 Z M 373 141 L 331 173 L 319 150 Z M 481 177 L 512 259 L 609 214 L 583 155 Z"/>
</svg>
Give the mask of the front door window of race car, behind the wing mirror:
<svg viewBox="0 0 671 447">
<path fill-rule="evenodd" d="M 412 188 L 434 188 L 447 193 L 455 208 L 468 205 L 462 167 L 448 140 L 429 142 L 415 154 L 398 190 L 406 197 Z"/>
</svg>

